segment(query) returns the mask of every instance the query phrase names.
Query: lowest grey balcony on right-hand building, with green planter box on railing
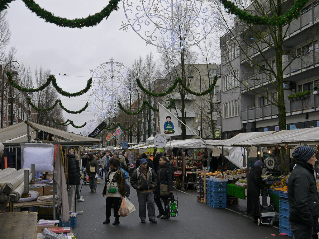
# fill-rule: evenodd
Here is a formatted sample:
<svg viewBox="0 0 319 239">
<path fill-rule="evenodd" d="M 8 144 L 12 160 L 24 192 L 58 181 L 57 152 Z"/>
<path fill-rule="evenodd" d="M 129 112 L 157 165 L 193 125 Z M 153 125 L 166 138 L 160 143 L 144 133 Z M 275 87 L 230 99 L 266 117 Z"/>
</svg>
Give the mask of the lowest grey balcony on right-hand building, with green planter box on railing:
<svg viewBox="0 0 319 239">
<path fill-rule="evenodd" d="M 286 116 L 301 114 L 305 111 L 319 110 L 319 95 L 311 94 L 310 97 L 297 100 L 285 100 Z M 278 108 L 275 105 L 262 105 L 241 111 L 241 123 L 278 118 Z"/>
</svg>

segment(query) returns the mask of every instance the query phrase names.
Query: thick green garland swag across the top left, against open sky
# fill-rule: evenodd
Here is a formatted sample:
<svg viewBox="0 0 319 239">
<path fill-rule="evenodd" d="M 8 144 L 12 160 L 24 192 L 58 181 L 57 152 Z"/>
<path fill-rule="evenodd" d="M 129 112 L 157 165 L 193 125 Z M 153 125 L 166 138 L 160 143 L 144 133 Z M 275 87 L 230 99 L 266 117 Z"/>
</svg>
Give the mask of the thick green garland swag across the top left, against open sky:
<svg viewBox="0 0 319 239">
<path fill-rule="evenodd" d="M 84 26 L 96 26 L 98 25 L 104 18 L 108 18 L 110 13 L 114 10 L 118 9 L 118 4 L 120 0 L 110 0 L 109 4 L 102 9 L 102 11 L 95 13 L 94 15 L 89 15 L 86 18 L 75 18 L 75 19 L 67 19 L 55 17 L 53 13 L 44 10 L 38 4 L 36 4 L 33 0 L 22 0 L 28 9 L 34 12 L 38 17 L 45 19 L 46 22 L 54 23 L 58 26 L 63 27 L 71 27 L 71 28 L 82 28 Z M 2 4 L 3 5 L 3 4 Z M 5 7 L 5 6 L 4 6 Z M 0 9 L 3 10 L 3 9 Z"/>
</svg>

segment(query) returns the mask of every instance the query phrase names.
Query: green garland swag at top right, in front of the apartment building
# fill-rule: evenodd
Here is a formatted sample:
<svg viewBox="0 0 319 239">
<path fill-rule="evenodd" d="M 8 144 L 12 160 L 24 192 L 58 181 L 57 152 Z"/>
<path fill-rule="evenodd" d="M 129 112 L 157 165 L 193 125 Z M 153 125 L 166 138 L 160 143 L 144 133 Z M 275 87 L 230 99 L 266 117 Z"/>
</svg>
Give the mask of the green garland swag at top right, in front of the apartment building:
<svg viewBox="0 0 319 239">
<path fill-rule="evenodd" d="M 236 15 L 239 19 L 253 25 L 284 25 L 291 22 L 300 16 L 301 9 L 308 3 L 308 0 L 296 0 L 291 9 L 287 10 L 281 16 L 261 17 L 258 15 L 251 15 L 250 13 L 241 10 L 232 1 L 222 0 L 228 13 Z"/>
</svg>

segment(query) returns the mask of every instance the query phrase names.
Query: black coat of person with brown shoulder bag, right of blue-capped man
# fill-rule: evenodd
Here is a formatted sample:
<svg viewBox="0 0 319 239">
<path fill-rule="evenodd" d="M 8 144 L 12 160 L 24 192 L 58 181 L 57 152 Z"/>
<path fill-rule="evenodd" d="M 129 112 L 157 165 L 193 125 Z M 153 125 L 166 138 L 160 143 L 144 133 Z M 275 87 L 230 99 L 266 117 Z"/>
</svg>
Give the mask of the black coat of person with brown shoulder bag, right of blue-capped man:
<svg viewBox="0 0 319 239">
<path fill-rule="evenodd" d="M 173 179 L 175 179 L 173 167 L 170 163 L 166 162 L 164 166 L 159 166 L 157 171 L 157 187 L 154 190 L 154 196 L 159 197 L 159 189 L 161 184 L 168 185 L 168 191 L 173 191 Z"/>
</svg>

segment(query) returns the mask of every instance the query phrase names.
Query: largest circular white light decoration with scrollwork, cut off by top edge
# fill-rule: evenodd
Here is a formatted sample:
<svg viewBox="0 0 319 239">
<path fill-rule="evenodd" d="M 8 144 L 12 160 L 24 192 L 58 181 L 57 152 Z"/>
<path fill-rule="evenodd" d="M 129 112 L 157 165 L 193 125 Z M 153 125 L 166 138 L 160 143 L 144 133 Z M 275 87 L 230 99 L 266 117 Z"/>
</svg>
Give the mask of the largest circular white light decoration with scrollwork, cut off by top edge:
<svg viewBox="0 0 319 239">
<path fill-rule="evenodd" d="M 129 26 L 145 40 L 146 45 L 182 49 L 198 45 L 218 22 L 220 1 L 198 0 L 123 0 Z M 186 39 L 186 40 L 185 40 Z"/>
</svg>

